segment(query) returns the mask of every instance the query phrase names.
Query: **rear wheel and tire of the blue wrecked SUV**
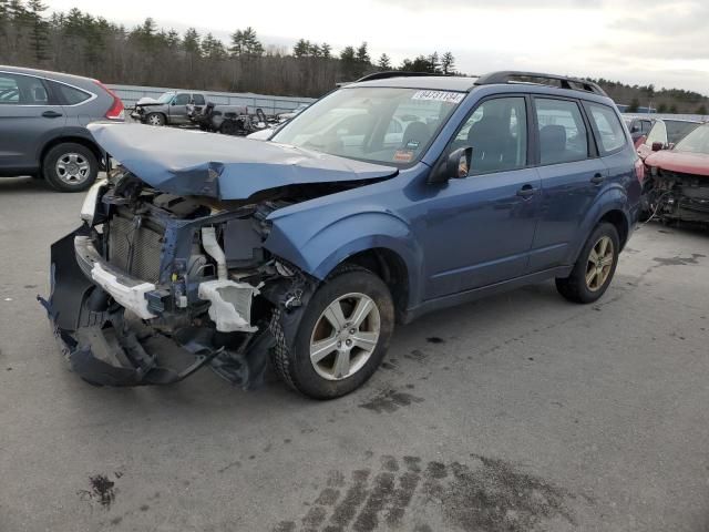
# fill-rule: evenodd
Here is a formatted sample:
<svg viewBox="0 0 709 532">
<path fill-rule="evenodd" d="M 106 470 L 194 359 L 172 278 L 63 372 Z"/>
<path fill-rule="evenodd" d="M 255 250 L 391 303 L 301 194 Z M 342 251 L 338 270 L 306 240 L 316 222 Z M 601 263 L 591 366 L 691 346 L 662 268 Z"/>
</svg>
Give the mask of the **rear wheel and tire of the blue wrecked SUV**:
<svg viewBox="0 0 709 532">
<path fill-rule="evenodd" d="M 594 303 L 610 285 L 618 265 L 620 239 L 613 224 L 600 223 L 584 245 L 568 277 L 556 278 L 556 289 L 574 303 Z"/>
</svg>

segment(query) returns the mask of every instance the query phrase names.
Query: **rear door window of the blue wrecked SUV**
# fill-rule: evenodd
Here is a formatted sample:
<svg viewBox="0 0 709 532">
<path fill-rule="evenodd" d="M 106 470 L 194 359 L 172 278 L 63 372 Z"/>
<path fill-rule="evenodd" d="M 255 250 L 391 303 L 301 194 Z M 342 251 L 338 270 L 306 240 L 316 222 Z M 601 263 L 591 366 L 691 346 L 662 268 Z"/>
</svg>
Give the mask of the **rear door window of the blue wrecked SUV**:
<svg viewBox="0 0 709 532">
<path fill-rule="evenodd" d="M 534 105 L 542 164 L 588 158 L 588 132 L 576 102 L 537 98 Z"/>
</svg>

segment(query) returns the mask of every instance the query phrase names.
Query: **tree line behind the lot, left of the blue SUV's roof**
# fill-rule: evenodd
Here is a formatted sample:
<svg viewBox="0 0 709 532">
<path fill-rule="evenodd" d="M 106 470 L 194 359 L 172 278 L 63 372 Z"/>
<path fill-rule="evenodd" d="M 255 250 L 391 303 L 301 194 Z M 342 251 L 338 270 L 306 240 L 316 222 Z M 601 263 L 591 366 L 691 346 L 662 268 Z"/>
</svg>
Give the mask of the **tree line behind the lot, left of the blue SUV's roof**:
<svg viewBox="0 0 709 532">
<path fill-rule="evenodd" d="M 228 42 L 195 28 L 183 33 L 147 18 L 133 28 L 79 9 L 48 13 L 41 0 L 0 0 L 0 63 L 69 72 L 104 83 L 320 96 L 338 82 L 382 70 L 455 74 L 451 52 L 404 59 L 370 57 L 367 42 L 335 51 L 300 39 L 266 44 L 254 28 Z"/>
</svg>

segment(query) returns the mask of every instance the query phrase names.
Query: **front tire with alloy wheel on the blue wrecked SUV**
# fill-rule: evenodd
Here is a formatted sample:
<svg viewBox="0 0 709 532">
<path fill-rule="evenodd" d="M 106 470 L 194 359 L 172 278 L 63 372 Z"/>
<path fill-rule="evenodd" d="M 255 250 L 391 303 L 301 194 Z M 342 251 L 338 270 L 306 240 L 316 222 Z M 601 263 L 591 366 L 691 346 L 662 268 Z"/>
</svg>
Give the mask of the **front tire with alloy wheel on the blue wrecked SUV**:
<svg viewBox="0 0 709 532">
<path fill-rule="evenodd" d="M 274 366 L 284 381 L 305 396 L 342 397 L 377 370 L 389 349 L 393 325 L 387 285 L 364 268 L 346 267 L 310 298 L 295 338 L 276 335 Z"/>
</svg>

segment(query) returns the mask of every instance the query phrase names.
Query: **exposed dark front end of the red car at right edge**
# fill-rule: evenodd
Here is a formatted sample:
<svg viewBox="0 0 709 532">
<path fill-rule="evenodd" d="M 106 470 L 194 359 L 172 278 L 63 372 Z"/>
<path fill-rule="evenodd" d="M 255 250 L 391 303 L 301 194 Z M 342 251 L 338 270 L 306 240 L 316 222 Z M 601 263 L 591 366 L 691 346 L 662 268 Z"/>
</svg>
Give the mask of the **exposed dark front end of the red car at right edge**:
<svg viewBox="0 0 709 532">
<path fill-rule="evenodd" d="M 709 177 L 653 167 L 644 211 L 666 222 L 709 223 Z"/>
</svg>

